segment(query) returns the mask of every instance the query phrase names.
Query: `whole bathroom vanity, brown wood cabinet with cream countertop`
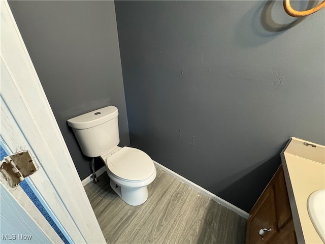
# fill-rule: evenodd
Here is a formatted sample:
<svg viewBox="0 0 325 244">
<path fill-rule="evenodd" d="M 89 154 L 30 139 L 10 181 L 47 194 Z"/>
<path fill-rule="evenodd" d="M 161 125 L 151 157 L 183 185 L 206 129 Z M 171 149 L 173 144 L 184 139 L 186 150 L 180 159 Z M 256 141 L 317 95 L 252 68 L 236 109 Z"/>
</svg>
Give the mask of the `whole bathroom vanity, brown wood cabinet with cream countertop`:
<svg viewBox="0 0 325 244">
<path fill-rule="evenodd" d="M 325 219 L 314 220 L 309 212 L 323 215 L 325 205 L 309 204 L 308 209 L 307 203 L 325 188 L 325 147 L 290 138 L 281 160 L 250 212 L 246 243 L 324 243 Z"/>
</svg>

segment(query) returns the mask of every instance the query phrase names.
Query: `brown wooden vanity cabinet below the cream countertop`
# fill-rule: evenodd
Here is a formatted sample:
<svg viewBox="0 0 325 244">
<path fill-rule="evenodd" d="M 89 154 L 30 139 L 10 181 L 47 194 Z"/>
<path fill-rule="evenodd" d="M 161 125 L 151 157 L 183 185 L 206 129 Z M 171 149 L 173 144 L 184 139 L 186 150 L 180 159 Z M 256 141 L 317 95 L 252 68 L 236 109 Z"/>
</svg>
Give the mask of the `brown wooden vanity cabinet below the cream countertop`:
<svg viewBox="0 0 325 244">
<path fill-rule="evenodd" d="M 264 228 L 272 230 L 259 235 L 259 230 Z M 297 243 L 282 165 L 258 198 L 247 220 L 246 244 L 259 243 Z"/>
</svg>

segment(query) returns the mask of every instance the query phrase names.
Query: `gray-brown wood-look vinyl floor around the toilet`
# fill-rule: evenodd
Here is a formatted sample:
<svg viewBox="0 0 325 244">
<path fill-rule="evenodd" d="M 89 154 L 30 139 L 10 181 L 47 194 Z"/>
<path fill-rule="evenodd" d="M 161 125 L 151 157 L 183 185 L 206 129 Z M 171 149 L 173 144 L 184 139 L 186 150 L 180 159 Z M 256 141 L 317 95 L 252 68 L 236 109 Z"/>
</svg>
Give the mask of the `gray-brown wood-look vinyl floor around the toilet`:
<svg viewBox="0 0 325 244">
<path fill-rule="evenodd" d="M 157 168 L 140 206 L 123 202 L 106 173 L 85 186 L 107 243 L 245 243 L 246 220 Z"/>
</svg>

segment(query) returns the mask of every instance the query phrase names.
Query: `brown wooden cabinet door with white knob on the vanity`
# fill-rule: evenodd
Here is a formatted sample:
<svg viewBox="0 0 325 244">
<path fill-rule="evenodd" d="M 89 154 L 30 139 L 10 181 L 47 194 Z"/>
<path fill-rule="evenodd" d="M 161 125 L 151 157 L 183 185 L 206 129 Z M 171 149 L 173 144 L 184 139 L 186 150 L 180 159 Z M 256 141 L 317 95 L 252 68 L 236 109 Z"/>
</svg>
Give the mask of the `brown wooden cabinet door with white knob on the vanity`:
<svg viewBox="0 0 325 244">
<path fill-rule="evenodd" d="M 264 228 L 272 230 L 259 235 L 259 230 Z M 269 184 L 247 220 L 246 244 L 270 243 L 277 234 L 274 188 Z"/>
</svg>

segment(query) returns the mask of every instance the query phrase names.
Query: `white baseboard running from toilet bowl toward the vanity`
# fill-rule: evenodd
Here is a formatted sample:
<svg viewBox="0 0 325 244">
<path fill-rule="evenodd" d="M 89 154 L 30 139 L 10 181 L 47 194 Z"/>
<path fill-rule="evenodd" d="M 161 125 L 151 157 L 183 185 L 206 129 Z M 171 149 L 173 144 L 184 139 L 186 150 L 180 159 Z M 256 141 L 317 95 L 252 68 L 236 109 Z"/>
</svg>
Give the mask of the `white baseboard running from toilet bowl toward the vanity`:
<svg viewBox="0 0 325 244">
<path fill-rule="evenodd" d="M 214 200 L 215 202 L 219 203 L 220 205 L 236 212 L 236 214 L 238 214 L 239 216 L 248 219 L 249 214 L 248 212 L 245 212 L 244 210 L 240 209 L 239 207 L 236 207 L 235 205 L 231 204 L 230 202 L 227 202 L 225 200 L 223 200 L 222 198 L 214 195 L 213 193 L 209 192 L 208 190 L 198 186 L 197 184 L 193 183 L 192 181 L 184 178 L 183 176 L 175 173 L 174 171 L 170 170 L 169 168 L 166 168 L 165 166 L 153 161 L 153 163 L 155 164 L 155 166 L 163 171 L 165 171 L 166 173 L 172 175 L 173 177 L 179 179 L 180 181 L 184 182 L 187 186 L 196 189 L 197 191 L 201 192 L 202 194 L 206 195 L 207 197 L 211 198 L 212 200 Z"/>
</svg>

